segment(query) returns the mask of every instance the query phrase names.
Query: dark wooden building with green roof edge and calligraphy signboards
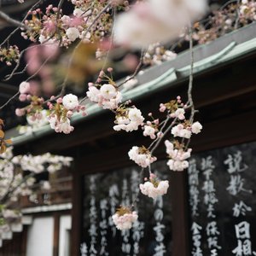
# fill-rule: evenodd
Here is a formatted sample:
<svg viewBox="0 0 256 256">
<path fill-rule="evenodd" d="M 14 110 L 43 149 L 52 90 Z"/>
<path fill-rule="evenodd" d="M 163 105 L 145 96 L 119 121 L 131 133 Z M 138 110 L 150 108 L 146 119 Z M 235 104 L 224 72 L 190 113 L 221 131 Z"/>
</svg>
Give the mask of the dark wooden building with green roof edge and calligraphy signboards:
<svg viewBox="0 0 256 256">
<path fill-rule="evenodd" d="M 191 141 L 195 168 L 189 174 L 168 171 L 165 148 L 160 147 L 160 162 L 153 168 L 170 181 L 169 193 L 155 203 L 140 195 L 140 224 L 130 233 L 115 233 L 109 216 L 121 201 L 131 202 L 136 196 L 133 185 L 140 177 L 127 152 L 133 145 L 148 145 L 142 132 L 113 131 L 113 114 L 91 105 L 87 117 L 74 117 L 75 130 L 68 136 L 47 126 L 15 137 L 16 153 L 49 151 L 75 158 L 70 255 L 256 255 L 255 33 L 256 24 L 251 24 L 195 47 L 193 96 L 199 110 L 196 119 L 204 127 Z M 139 85 L 125 91 L 124 97 L 143 113 L 156 113 L 160 102 L 178 95 L 186 98 L 188 79 L 189 52 L 183 52 L 138 76 Z M 235 154 L 238 160 L 231 170 Z M 208 166 L 201 166 L 203 160 Z M 239 180 L 236 191 L 229 189 L 231 180 Z M 211 191 L 206 189 L 210 182 Z M 241 202 L 246 210 L 234 213 L 233 207 Z M 209 230 L 214 223 L 218 229 Z M 250 254 L 237 253 L 245 244 L 251 244 Z"/>
</svg>

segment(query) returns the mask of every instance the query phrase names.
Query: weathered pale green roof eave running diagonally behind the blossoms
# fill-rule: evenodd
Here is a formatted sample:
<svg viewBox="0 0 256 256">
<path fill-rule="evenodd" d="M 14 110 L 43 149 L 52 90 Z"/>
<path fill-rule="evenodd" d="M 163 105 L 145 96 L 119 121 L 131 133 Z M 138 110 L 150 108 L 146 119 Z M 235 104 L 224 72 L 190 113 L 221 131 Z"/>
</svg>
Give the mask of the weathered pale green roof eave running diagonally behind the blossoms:
<svg viewBox="0 0 256 256">
<path fill-rule="evenodd" d="M 255 55 L 255 34 L 256 23 L 254 22 L 236 32 L 231 32 L 222 38 L 218 38 L 210 44 L 196 46 L 194 49 L 194 75 L 197 76 L 201 73 L 207 73 L 212 69 L 238 61 L 248 55 Z M 166 61 L 157 67 L 148 68 L 143 75 L 138 75 L 139 84 L 131 90 L 122 91 L 123 101 L 139 99 L 148 94 L 153 94 L 156 90 L 164 89 L 166 86 L 172 87 L 189 78 L 189 69 L 189 51 L 187 50 L 177 55 L 175 60 Z M 88 116 L 83 117 L 80 114 L 75 114 L 72 123 L 74 125 L 82 121 L 87 121 L 103 111 L 96 104 L 90 104 L 87 108 Z M 49 125 L 44 125 L 32 134 L 13 137 L 13 145 L 21 145 L 39 137 L 45 137 L 53 132 L 55 131 Z"/>
</svg>

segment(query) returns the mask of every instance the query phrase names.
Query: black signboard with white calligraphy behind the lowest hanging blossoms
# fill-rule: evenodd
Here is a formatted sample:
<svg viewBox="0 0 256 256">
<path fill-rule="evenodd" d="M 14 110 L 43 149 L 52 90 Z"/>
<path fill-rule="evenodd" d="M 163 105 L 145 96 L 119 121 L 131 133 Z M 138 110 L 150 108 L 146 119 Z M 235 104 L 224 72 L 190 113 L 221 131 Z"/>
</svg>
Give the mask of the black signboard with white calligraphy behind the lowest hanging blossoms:
<svg viewBox="0 0 256 256">
<path fill-rule="evenodd" d="M 139 192 L 141 169 L 124 168 L 84 175 L 83 232 L 80 255 L 171 255 L 172 206 L 168 193 L 156 201 Z M 161 180 L 169 180 L 166 161 L 152 166 Z M 143 177 L 148 177 L 144 170 Z M 111 216 L 120 204 L 131 205 L 138 195 L 138 221 L 131 230 L 117 230 Z"/>
</svg>

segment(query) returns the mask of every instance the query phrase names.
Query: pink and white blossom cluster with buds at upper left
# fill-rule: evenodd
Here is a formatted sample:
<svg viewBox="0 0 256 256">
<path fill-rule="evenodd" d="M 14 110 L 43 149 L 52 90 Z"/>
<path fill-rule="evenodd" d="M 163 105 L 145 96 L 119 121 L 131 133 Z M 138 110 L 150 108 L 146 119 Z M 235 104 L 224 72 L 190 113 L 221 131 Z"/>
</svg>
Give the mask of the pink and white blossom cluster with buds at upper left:
<svg viewBox="0 0 256 256">
<path fill-rule="evenodd" d="M 68 47 L 78 38 L 85 43 L 94 42 L 108 33 L 112 22 L 108 12 L 103 12 L 96 25 L 92 26 L 106 2 L 96 2 L 93 6 L 87 1 L 72 3 L 74 9 L 71 16 L 63 15 L 62 10 L 52 4 L 49 4 L 44 13 L 41 9 L 29 11 L 30 16 L 25 20 L 25 25 L 30 29 L 21 32 L 23 38 L 32 42 L 38 40 L 41 44 L 59 42 L 61 46 Z"/>
</svg>

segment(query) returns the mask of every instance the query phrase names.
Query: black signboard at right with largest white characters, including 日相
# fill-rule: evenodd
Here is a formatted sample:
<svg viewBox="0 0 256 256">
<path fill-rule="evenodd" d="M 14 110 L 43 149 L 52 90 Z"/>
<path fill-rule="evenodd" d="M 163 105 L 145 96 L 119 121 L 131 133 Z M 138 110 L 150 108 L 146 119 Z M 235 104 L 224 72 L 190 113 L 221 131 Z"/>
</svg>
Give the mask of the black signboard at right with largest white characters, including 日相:
<svg viewBox="0 0 256 256">
<path fill-rule="evenodd" d="M 193 154 L 191 255 L 256 255 L 256 143 Z"/>
</svg>

